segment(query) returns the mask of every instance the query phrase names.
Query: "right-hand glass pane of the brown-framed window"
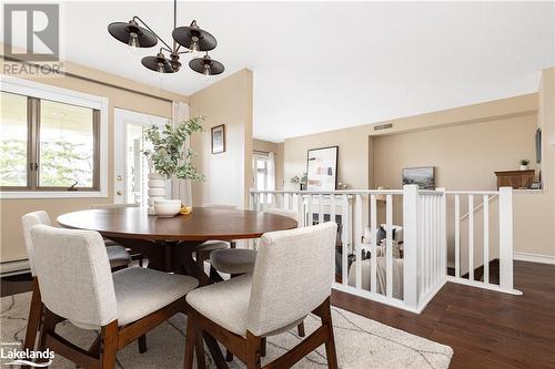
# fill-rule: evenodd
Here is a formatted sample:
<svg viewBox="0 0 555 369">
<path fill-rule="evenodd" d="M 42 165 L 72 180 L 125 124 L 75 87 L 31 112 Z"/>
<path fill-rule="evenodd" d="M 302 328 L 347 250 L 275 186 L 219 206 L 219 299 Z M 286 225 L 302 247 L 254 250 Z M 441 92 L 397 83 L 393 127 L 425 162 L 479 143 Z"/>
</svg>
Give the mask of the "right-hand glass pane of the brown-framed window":
<svg viewBox="0 0 555 369">
<path fill-rule="evenodd" d="M 93 110 L 42 100 L 39 186 L 92 187 Z"/>
</svg>

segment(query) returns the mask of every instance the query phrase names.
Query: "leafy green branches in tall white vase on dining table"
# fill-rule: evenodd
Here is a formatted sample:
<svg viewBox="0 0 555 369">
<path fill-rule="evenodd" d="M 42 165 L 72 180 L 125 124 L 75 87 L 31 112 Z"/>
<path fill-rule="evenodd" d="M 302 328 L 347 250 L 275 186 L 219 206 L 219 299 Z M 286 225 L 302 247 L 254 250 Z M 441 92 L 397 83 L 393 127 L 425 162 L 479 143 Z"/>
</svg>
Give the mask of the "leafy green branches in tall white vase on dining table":
<svg viewBox="0 0 555 369">
<path fill-rule="evenodd" d="M 144 131 L 144 139 L 152 144 L 151 148 L 143 152 L 150 166 L 149 214 L 153 214 L 152 206 L 157 199 L 165 198 L 165 180 L 204 180 L 192 163 L 195 153 L 185 148 L 186 139 L 195 132 L 202 132 L 203 122 L 203 116 L 194 116 L 175 125 L 152 125 Z"/>
</svg>

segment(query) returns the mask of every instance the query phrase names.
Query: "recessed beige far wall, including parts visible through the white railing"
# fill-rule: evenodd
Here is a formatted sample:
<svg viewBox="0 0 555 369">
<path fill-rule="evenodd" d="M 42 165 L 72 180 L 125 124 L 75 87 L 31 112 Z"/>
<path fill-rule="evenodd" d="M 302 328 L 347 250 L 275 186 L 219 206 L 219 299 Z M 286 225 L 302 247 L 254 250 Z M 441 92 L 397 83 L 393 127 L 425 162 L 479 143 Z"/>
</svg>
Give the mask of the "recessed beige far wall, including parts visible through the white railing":
<svg viewBox="0 0 555 369">
<path fill-rule="evenodd" d="M 537 127 L 537 114 L 513 116 L 480 123 L 451 125 L 425 131 L 397 133 L 374 136 L 371 163 L 373 164 L 374 185 L 400 188 L 401 173 L 404 167 L 434 166 L 436 187 L 447 189 L 496 189 L 494 171 L 517 170 L 518 160 L 535 158 L 534 135 Z M 535 165 L 532 165 L 535 168 Z M 527 204 L 531 196 L 515 192 L 514 196 L 514 244 L 517 250 L 532 252 L 528 246 L 534 243 L 534 252 L 545 254 L 547 238 L 531 238 L 528 222 L 522 219 L 528 214 Z M 482 197 L 474 196 L 475 205 Z M 468 212 L 467 198 L 461 198 L 461 215 Z M 380 208 L 381 222 L 385 221 L 383 206 Z M 490 256 L 497 257 L 498 249 L 498 202 L 492 201 L 490 212 Z M 402 202 L 394 204 L 394 222 L 402 223 Z M 447 203 L 447 243 L 451 260 L 454 260 L 454 203 Z M 524 222 L 523 222 L 524 221 Z M 542 222 L 542 221 L 539 221 Z M 474 219 L 474 265 L 483 260 L 483 217 L 475 213 Z M 466 273 L 467 265 L 467 227 L 468 219 L 461 222 L 461 262 Z M 524 248 L 523 248 L 524 247 Z"/>
</svg>

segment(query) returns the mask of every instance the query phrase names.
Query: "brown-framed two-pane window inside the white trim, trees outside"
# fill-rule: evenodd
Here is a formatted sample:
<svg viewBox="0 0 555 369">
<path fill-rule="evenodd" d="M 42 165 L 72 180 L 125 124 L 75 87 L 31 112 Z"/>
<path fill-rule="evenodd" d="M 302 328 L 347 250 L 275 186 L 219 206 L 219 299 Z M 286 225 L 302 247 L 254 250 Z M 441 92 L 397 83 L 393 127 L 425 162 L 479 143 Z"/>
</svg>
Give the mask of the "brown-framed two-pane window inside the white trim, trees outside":
<svg viewBox="0 0 555 369">
<path fill-rule="evenodd" d="M 2 191 L 97 191 L 100 111 L 1 92 Z"/>
</svg>

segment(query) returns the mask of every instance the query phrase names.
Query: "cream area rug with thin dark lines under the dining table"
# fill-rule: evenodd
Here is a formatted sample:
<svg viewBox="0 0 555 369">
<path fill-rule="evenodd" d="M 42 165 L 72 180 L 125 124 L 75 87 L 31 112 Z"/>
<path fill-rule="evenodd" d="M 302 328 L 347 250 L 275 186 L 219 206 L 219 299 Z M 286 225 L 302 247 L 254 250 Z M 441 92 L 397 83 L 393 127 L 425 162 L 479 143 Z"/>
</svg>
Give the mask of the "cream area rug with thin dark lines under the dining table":
<svg viewBox="0 0 555 369">
<path fill-rule="evenodd" d="M 20 294 L 0 299 L 0 335 L 3 351 L 21 347 L 26 334 L 27 316 L 31 294 Z M 335 345 L 340 368 L 448 368 L 453 349 L 445 345 L 407 334 L 377 321 L 339 309 L 332 309 L 335 330 Z M 320 324 L 319 318 L 309 316 L 305 320 L 306 334 L 310 335 Z M 184 315 L 175 315 L 167 322 L 147 335 L 148 351 L 140 355 L 137 344 L 131 344 L 118 353 L 118 368 L 182 368 L 185 345 Z M 95 337 L 94 331 L 79 329 L 69 322 L 58 325 L 57 331 L 78 346 L 87 348 Z M 285 350 L 294 347 L 302 338 L 296 328 L 268 339 L 268 362 Z M 7 360 L 2 359 L 3 362 Z M 214 368 L 206 356 L 209 368 Z M 320 347 L 297 362 L 294 368 L 325 368 L 325 349 Z M 71 368 L 75 366 L 60 356 L 56 356 L 50 368 Z M 244 368 L 239 361 L 230 368 Z"/>
</svg>

